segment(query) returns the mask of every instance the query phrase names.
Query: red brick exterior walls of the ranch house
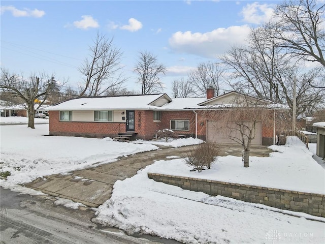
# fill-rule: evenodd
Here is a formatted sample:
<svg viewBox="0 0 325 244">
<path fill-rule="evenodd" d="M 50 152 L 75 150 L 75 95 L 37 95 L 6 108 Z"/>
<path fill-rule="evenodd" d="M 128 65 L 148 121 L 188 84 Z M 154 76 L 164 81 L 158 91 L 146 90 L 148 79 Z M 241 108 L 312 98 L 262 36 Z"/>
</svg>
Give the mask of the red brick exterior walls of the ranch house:
<svg viewBox="0 0 325 244">
<path fill-rule="evenodd" d="M 216 111 L 196 111 L 198 113 L 198 138 L 206 140 L 207 120 L 216 120 Z M 149 140 L 155 131 L 170 129 L 171 119 L 189 120 L 189 131 L 174 131 L 179 135 L 195 137 L 196 114 L 193 111 L 161 111 L 161 121 L 153 120 L 153 111 L 135 110 L 135 133 L 138 139 Z M 114 137 L 116 128 L 120 125 L 120 132 L 126 131 L 125 123 L 99 122 L 60 122 L 59 111 L 50 111 L 50 135 L 70 135 L 89 137 Z M 118 130 L 116 130 L 116 133 Z M 263 126 L 262 144 L 271 145 L 273 142 L 273 126 Z"/>
</svg>

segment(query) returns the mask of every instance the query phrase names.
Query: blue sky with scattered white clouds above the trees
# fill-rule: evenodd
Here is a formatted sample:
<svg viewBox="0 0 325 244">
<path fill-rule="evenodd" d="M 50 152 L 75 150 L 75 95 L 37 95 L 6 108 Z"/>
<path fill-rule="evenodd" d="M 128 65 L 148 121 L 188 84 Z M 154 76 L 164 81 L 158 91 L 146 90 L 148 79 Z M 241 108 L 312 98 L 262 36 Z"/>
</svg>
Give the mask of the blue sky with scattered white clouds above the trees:
<svg viewBox="0 0 325 244">
<path fill-rule="evenodd" d="M 69 84 L 96 33 L 123 52 L 125 88 L 140 91 L 133 72 L 139 51 L 167 67 L 161 78 L 171 94 L 174 78 L 201 62 L 216 61 L 244 44 L 250 27 L 270 19 L 278 1 L 1 1 L 1 67 L 29 75 L 44 71 Z"/>
</svg>

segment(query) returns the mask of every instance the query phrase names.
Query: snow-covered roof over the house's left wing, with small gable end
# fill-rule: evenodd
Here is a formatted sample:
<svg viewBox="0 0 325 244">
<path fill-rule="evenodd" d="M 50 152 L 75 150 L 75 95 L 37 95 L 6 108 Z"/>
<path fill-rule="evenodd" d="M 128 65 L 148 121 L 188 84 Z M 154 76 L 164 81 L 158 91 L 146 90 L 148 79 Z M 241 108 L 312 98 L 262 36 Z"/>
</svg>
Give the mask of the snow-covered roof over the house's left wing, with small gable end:
<svg viewBox="0 0 325 244">
<path fill-rule="evenodd" d="M 105 109 L 158 109 L 157 100 L 168 103 L 171 99 L 166 94 L 136 95 L 119 97 L 76 98 L 49 106 L 48 110 L 105 110 Z M 157 104 L 157 105 L 153 105 Z"/>
</svg>

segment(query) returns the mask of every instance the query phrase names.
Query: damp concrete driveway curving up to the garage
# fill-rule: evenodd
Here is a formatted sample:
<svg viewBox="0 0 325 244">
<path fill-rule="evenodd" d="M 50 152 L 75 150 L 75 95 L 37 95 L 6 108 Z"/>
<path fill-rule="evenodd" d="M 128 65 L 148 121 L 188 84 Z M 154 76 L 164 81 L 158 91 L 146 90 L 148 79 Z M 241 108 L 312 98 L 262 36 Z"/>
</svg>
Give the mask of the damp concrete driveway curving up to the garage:
<svg viewBox="0 0 325 244">
<path fill-rule="evenodd" d="M 113 163 L 77 170 L 68 175 L 53 174 L 44 177 L 45 179 L 38 178 L 25 186 L 51 196 L 81 202 L 88 207 L 98 207 L 111 197 L 113 185 L 117 180 L 132 177 L 138 170 L 154 161 L 166 160 L 167 156 L 184 157 L 190 149 L 191 146 L 161 147 L 155 151 L 123 157 Z M 222 152 L 221 156 L 241 156 L 242 148 L 237 145 L 225 145 Z M 266 146 L 258 146 L 251 149 L 251 156 L 268 157 L 270 152 Z"/>
</svg>

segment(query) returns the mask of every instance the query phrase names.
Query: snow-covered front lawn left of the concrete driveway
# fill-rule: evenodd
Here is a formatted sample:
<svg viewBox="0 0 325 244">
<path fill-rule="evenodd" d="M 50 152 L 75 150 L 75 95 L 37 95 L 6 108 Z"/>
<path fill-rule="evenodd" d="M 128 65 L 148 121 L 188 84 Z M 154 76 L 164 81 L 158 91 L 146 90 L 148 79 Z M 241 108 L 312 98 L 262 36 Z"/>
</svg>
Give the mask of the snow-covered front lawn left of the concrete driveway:
<svg viewBox="0 0 325 244">
<path fill-rule="evenodd" d="M 3 187 L 30 182 L 38 177 L 109 163 L 126 155 L 158 149 L 150 144 L 113 141 L 111 138 L 48 136 L 49 125 L 1 126 L 0 171 L 10 171 Z"/>
</svg>

